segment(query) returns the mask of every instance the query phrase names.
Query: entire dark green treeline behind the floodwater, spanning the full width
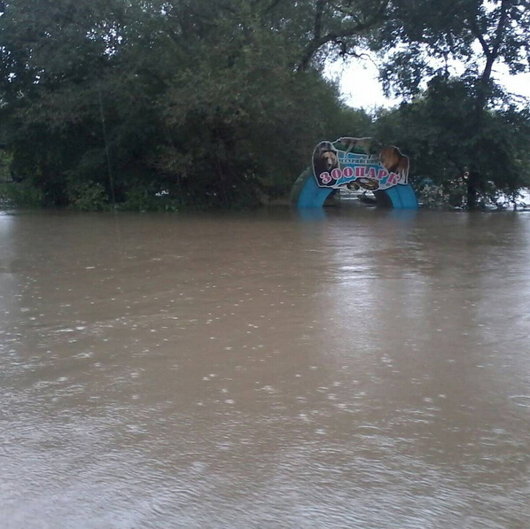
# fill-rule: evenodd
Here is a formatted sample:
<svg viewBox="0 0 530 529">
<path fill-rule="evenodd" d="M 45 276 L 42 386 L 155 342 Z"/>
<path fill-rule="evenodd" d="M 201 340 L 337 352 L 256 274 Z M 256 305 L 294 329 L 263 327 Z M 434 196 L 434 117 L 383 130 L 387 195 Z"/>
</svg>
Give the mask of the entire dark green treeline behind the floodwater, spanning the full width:
<svg viewBox="0 0 530 529">
<path fill-rule="evenodd" d="M 492 78 L 501 61 L 528 68 L 528 11 L 524 0 L 2 2 L 0 142 L 18 181 L 5 192 L 80 209 L 253 206 L 287 194 L 318 141 L 373 135 L 411 155 L 417 185 L 476 206 L 528 183 L 527 109 Z M 325 61 L 369 49 L 404 101 L 375 116 L 323 78 Z"/>
</svg>

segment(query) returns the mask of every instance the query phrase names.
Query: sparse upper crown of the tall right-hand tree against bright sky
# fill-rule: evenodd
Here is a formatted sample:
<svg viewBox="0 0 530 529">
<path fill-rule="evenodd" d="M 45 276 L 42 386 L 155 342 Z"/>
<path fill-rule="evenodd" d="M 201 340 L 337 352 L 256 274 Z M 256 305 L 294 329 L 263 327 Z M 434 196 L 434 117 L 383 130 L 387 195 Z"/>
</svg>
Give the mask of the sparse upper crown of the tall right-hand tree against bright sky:
<svg viewBox="0 0 530 529">
<path fill-rule="evenodd" d="M 495 63 L 512 74 L 530 70 L 527 0 L 394 0 L 388 15 L 371 43 L 386 61 L 386 90 L 396 95 L 415 96 L 458 65 L 484 107 L 495 101 Z"/>
</svg>

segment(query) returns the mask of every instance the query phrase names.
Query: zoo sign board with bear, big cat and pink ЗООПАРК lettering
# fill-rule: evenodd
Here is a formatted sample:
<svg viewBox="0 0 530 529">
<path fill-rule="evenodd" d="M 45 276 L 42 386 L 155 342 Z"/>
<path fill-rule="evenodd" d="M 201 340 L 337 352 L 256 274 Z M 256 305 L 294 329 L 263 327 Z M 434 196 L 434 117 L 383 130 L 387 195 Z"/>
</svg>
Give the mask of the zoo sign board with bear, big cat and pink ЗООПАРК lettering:
<svg viewBox="0 0 530 529">
<path fill-rule="evenodd" d="M 409 183 L 409 158 L 370 137 L 341 137 L 316 145 L 313 171 L 319 187 L 384 191 Z"/>
</svg>

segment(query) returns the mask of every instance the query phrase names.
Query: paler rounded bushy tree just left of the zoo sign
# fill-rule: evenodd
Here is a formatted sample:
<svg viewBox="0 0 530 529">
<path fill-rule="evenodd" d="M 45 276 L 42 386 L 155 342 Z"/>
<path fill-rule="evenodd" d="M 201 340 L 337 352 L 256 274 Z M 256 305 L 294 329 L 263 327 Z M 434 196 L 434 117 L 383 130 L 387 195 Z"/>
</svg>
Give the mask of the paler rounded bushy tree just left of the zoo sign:
<svg viewBox="0 0 530 529">
<path fill-rule="evenodd" d="M 319 139 L 340 136 L 345 121 L 349 128 L 370 121 L 340 103 L 316 71 L 295 72 L 301 46 L 278 21 L 285 13 L 278 3 L 256 5 L 222 4 L 195 60 L 160 100 L 171 131 L 164 170 L 191 196 L 223 205 L 287 193 Z"/>
</svg>

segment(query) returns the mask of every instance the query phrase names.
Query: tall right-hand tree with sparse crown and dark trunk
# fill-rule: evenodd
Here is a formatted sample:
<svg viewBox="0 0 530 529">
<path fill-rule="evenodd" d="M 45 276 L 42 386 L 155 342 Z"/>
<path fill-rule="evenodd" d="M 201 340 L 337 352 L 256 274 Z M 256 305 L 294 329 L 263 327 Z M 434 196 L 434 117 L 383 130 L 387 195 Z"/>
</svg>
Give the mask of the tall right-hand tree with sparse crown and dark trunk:
<svg viewBox="0 0 530 529">
<path fill-rule="evenodd" d="M 503 133 L 495 133 L 492 125 L 513 122 L 515 126 L 525 121 L 518 102 L 493 81 L 493 72 L 499 62 L 512 74 L 529 71 L 528 7 L 526 0 L 395 0 L 386 27 L 374 41 L 374 47 L 386 54 L 381 78 L 387 91 L 417 97 L 422 83 L 435 79 L 438 89 L 444 83 L 445 90 L 456 89 L 456 105 L 465 101 L 460 130 L 466 131 L 470 147 L 465 164 L 460 165 L 468 167 L 470 208 L 477 205 L 479 191 L 489 178 L 485 167 L 494 167 L 495 160 L 506 153 Z M 456 63 L 464 66 L 458 88 L 451 75 Z M 430 97 L 436 97 L 438 89 L 433 87 Z M 448 110 L 447 105 L 443 108 Z M 505 121 L 492 122 L 492 115 Z M 508 173 L 506 179 L 520 181 Z"/>
</svg>

